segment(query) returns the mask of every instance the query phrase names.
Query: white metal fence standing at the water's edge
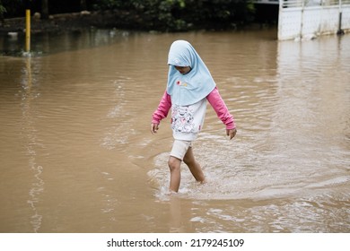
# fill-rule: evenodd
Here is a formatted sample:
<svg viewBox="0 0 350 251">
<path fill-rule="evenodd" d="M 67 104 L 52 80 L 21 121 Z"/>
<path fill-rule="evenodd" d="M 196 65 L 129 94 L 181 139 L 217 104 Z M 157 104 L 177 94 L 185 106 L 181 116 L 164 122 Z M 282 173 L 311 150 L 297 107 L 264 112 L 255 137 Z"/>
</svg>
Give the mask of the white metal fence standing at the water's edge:
<svg viewBox="0 0 350 251">
<path fill-rule="evenodd" d="M 278 39 L 350 31 L 350 0 L 280 0 Z"/>
</svg>

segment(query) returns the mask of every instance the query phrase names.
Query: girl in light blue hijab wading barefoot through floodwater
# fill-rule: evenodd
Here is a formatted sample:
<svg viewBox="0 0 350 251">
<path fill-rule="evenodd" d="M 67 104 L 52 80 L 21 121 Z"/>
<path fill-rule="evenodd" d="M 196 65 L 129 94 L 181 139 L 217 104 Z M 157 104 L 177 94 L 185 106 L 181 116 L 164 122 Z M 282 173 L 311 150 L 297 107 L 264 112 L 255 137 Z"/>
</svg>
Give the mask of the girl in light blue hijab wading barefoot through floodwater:
<svg viewBox="0 0 350 251">
<path fill-rule="evenodd" d="M 192 142 L 203 127 L 206 100 L 226 126 L 230 140 L 236 134 L 236 125 L 228 111 L 206 64 L 188 41 L 171 44 L 168 56 L 169 74 L 166 91 L 152 117 L 151 131 L 157 133 L 161 120 L 171 109 L 171 128 L 174 137 L 168 165 L 171 171 L 171 192 L 179 191 L 180 165 L 184 161 L 193 177 L 206 182 L 201 166 L 192 151 Z"/>
</svg>

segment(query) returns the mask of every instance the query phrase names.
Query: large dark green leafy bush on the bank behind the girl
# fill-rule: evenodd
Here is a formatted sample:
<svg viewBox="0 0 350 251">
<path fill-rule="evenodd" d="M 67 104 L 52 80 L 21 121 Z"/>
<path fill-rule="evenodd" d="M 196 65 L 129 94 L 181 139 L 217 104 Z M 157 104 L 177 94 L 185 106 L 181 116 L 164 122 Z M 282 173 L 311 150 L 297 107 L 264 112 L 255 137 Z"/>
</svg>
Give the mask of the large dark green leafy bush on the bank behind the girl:
<svg viewBox="0 0 350 251">
<path fill-rule="evenodd" d="M 228 29 L 253 21 L 251 0 L 102 0 L 99 10 L 133 11 L 145 29 Z"/>
</svg>

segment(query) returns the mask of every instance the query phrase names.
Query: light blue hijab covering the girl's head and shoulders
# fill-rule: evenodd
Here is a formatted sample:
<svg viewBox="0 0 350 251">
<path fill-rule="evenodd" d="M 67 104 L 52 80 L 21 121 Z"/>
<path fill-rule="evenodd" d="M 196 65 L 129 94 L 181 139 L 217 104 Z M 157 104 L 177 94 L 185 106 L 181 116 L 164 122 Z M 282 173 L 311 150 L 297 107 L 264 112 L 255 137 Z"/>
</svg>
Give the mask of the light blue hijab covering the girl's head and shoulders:
<svg viewBox="0 0 350 251">
<path fill-rule="evenodd" d="M 203 100 L 214 90 L 215 82 L 206 64 L 188 41 L 177 40 L 171 44 L 168 56 L 169 74 L 167 92 L 171 102 L 188 106 Z M 180 74 L 175 66 L 190 66 L 188 74 Z"/>
</svg>

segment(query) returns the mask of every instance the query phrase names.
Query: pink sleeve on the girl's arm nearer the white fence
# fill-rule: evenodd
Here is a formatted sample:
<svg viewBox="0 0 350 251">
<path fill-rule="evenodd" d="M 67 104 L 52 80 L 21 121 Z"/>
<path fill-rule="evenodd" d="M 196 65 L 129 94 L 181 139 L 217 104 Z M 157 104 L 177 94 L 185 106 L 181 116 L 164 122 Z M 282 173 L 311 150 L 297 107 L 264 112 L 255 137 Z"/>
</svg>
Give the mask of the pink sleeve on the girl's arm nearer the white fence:
<svg viewBox="0 0 350 251">
<path fill-rule="evenodd" d="M 206 100 L 208 100 L 210 105 L 214 108 L 217 117 L 219 117 L 221 121 L 223 121 L 223 124 L 226 125 L 226 129 L 231 130 L 236 128 L 234 119 L 216 87 L 208 96 L 206 96 Z"/>
</svg>

